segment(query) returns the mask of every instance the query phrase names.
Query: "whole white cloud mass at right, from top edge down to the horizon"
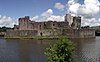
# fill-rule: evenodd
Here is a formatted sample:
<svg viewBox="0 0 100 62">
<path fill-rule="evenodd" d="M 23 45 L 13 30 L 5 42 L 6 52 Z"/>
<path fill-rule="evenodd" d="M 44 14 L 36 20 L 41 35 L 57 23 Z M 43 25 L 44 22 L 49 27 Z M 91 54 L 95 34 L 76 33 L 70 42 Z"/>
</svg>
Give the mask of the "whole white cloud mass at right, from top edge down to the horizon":
<svg viewBox="0 0 100 62">
<path fill-rule="evenodd" d="M 84 0 L 84 4 L 78 3 L 76 0 L 69 0 L 67 4 L 68 13 L 81 15 L 82 26 L 100 25 L 100 19 L 96 15 L 100 14 L 100 2 L 98 0 Z"/>
</svg>

